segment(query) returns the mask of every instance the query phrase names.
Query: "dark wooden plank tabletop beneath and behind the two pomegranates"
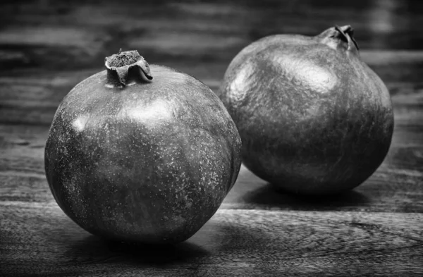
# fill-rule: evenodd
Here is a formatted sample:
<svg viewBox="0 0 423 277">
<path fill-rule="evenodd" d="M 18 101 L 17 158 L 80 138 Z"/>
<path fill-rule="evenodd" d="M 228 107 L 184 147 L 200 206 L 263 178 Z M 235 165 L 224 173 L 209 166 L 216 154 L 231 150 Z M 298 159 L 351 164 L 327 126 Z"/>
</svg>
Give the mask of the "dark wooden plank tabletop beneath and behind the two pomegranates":
<svg viewBox="0 0 423 277">
<path fill-rule="evenodd" d="M 0 276 L 423 276 L 417 1 L 16 2 L 0 6 Z M 386 82 L 395 108 L 388 156 L 360 187 L 298 197 L 276 193 L 243 167 L 219 211 L 174 247 L 106 242 L 57 206 L 44 176 L 49 124 L 105 56 L 137 49 L 216 90 L 250 42 L 317 35 L 335 24 L 355 28 L 362 59 Z"/>
</svg>

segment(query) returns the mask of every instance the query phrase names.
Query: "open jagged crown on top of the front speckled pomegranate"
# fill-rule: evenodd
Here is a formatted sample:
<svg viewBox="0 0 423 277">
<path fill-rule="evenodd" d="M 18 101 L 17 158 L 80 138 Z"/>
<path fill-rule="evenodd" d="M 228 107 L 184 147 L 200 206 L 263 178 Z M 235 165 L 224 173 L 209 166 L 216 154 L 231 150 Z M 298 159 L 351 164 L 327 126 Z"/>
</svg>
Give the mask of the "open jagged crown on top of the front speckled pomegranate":
<svg viewBox="0 0 423 277">
<path fill-rule="evenodd" d="M 138 51 L 122 51 L 106 57 L 104 65 L 107 68 L 107 84 L 111 86 L 125 87 L 131 78 L 137 80 L 152 80 L 147 61 Z"/>
</svg>

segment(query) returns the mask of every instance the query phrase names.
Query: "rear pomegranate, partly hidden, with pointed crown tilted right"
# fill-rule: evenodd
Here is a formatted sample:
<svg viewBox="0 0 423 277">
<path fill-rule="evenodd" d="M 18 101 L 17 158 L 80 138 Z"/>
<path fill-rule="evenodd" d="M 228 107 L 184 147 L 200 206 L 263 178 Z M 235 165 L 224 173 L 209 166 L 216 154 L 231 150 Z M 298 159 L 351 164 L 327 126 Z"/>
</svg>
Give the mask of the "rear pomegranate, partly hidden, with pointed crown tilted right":
<svg viewBox="0 0 423 277">
<path fill-rule="evenodd" d="M 259 39 L 235 56 L 218 94 L 240 132 L 245 166 L 285 191 L 350 190 L 391 144 L 389 92 L 360 59 L 350 26 Z"/>
</svg>

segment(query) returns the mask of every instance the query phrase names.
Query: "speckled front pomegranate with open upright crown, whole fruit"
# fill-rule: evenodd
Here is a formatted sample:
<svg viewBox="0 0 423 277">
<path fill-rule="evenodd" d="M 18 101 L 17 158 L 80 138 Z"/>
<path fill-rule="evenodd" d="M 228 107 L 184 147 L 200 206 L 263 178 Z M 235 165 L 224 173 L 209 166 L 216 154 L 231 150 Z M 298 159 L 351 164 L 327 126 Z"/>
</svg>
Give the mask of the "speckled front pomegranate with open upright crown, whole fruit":
<svg viewBox="0 0 423 277">
<path fill-rule="evenodd" d="M 49 187 L 88 232 L 176 243 L 213 216 L 235 183 L 241 140 L 219 97 L 137 51 L 106 58 L 59 105 L 45 148 Z"/>
</svg>

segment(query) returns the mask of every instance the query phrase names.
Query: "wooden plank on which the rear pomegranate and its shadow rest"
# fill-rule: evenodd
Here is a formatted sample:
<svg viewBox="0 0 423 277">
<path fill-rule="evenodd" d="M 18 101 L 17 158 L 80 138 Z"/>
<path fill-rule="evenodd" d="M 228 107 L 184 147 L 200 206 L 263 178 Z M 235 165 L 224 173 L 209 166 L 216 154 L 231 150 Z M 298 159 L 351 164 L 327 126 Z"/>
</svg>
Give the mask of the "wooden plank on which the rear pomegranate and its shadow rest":
<svg viewBox="0 0 423 277">
<path fill-rule="evenodd" d="M 54 202 L 44 175 L 48 126 L 0 125 L 0 200 Z M 223 202 L 227 209 L 423 212 L 423 128 L 395 127 L 384 164 L 365 183 L 336 197 L 276 193 L 244 166 Z"/>
</svg>

